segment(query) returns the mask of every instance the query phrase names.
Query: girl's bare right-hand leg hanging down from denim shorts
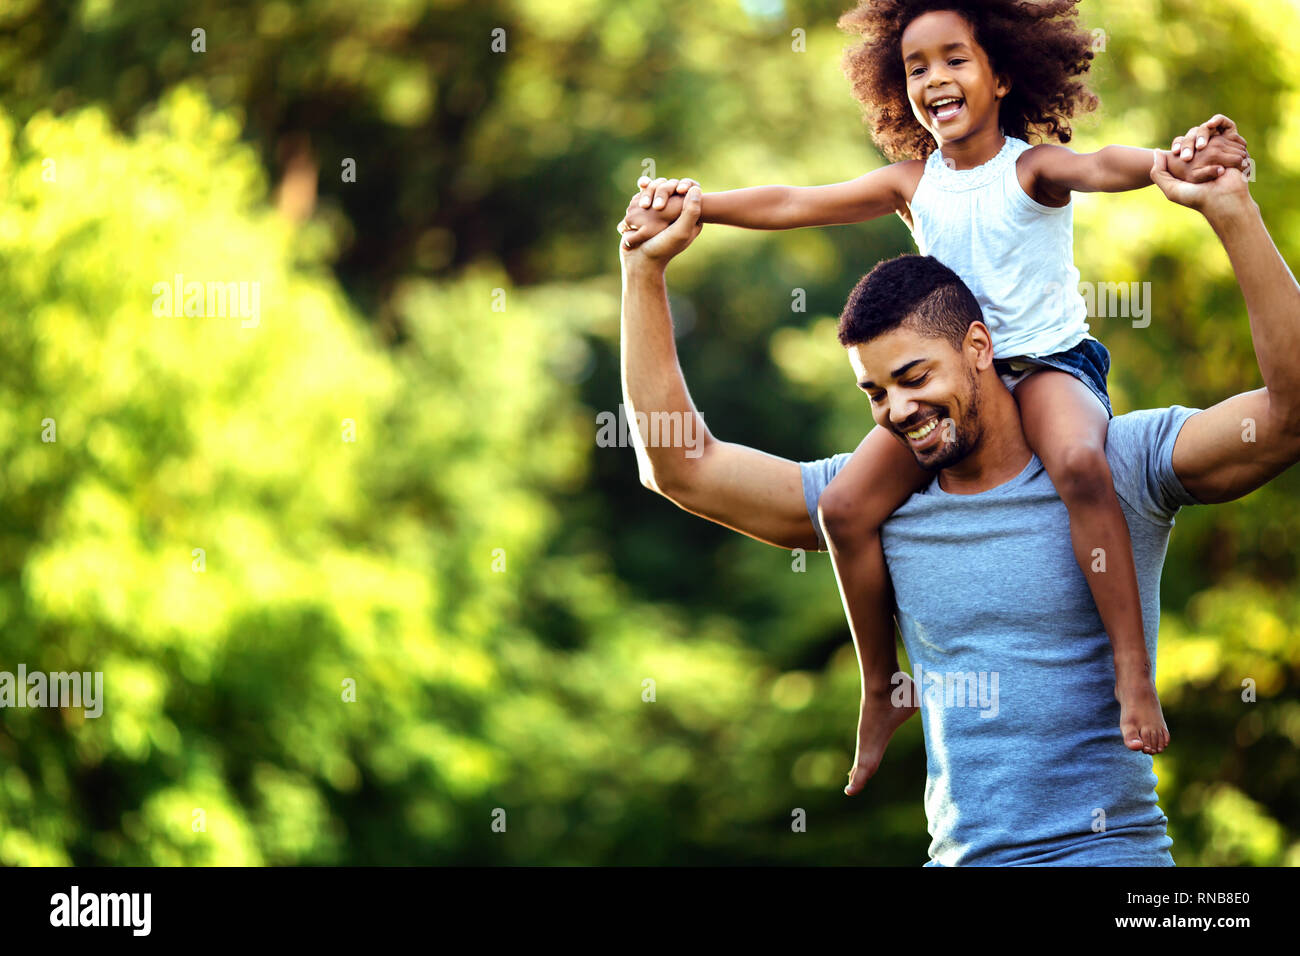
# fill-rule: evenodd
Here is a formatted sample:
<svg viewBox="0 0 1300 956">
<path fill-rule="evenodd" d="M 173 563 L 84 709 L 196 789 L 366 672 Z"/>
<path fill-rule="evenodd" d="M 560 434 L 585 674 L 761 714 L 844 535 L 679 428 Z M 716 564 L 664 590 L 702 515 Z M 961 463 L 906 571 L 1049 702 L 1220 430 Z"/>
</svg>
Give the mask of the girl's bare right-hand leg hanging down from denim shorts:
<svg viewBox="0 0 1300 956">
<path fill-rule="evenodd" d="M 1160 753 L 1169 728 L 1156 696 L 1128 523 L 1106 462 L 1106 411 L 1067 372 L 1035 372 L 1015 389 L 1030 447 L 1070 511 L 1074 557 L 1097 602 L 1115 654 L 1119 727 L 1130 750 Z M 1101 567 L 1096 571 L 1096 551 Z"/>
</svg>

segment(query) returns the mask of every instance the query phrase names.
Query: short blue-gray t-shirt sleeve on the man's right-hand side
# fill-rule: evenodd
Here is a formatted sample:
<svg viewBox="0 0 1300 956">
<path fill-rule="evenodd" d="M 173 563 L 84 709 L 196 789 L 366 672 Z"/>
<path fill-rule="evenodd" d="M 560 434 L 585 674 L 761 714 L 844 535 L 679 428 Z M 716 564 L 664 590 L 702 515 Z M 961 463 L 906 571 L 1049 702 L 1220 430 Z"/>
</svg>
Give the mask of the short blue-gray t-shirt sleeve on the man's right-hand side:
<svg viewBox="0 0 1300 956">
<path fill-rule="evenodd" d="M 1174 472 L 1174 444 L 1200 408 L 1174 405 L 1144 408 L 1110 420 L 1106 459 L 1115 493 L 1156 524 L 1170 524 L 1178 509 L 1200 505 Z"/>
</svg>

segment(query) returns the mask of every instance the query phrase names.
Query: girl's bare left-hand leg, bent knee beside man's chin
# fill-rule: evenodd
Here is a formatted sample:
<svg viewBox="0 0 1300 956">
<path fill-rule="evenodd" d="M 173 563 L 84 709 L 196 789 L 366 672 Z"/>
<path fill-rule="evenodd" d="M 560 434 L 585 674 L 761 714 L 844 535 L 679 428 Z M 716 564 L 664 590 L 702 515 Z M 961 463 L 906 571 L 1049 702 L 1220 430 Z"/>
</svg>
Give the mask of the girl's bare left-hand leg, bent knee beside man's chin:
<svg viewBox="0 0 1300 956">
<path fill-rule="evenodd" d="M 862 670 L 858 750 L 845 793 L 853 796 L 880 766 L 898 724 L 916 710 L 911 678 L 902 684 L 894 643 L 893 587 L 880 546 L 880 524 L 933 479 L 885 428 L 872 428 L 818 505 L 840 600 Z M 900 688 L 896 691 L 896 688 Z M 894 696 L 900 704 L 896 705 Z"/>
</svg>

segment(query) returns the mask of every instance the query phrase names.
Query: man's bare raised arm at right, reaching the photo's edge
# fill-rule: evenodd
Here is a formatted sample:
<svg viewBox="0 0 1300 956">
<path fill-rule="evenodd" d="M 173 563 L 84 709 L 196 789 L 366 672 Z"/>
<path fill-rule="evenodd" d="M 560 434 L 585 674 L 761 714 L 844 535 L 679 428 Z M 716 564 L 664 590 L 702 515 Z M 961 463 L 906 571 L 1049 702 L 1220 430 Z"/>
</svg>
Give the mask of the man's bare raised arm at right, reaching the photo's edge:
<svg viewBox="0 0 1300 956">
<path fill-rule="evenodd" d="M 1152 178 L 1171 200 L 1209 220 L 1245 297 L 1264 388 L 1190 418 L 1178 434 L 1173 462 L 1179 481 L 1197 501 L 1232 501 L 1300 460 L 1300 286 L 1239 170 L 1190 185 L 1174 179 L 1157 152 Z"/>
</svg>

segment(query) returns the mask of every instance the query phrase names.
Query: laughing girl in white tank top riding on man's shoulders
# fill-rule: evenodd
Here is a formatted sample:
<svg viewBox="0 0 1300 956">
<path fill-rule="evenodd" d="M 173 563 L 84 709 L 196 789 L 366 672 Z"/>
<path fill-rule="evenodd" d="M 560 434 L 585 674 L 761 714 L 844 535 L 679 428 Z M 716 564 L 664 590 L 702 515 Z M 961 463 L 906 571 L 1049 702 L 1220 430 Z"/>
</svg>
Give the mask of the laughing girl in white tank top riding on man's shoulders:
<svg viewBox="0 0 1300 956">
<path fill-rule="evenodd" d="M 1097 105 L 1079 79 L 1092 60 L 1092 36 L 1074 20 L 1076 3 L 859 4 L 840 20 L 864 38 L 846 53 L 845 70 L 867 107 L 872 138 L 898 161 L 832 186 L 707 194 L 702 221 L 793 229 L 894 212 L 922 255 L 965 280 L 992 336 L 996 368 L 1020 407 L 1024 436 L 1069 510 L 1075 558 L 1114 652 L 1124 745 L 1160 753 L 1169 731 L 1147 654 L 1128 527 L 1105 457 L 1113 418 L 1110 356 L 1089 334 L 1087 306 L 1075 291 L 1070 206 L 1074 191 L 1149 186 L 1152 151 L 1110 146 L 1079 155 L 1026 142 L 1069 142 L 1069 118 Z M 1202 182 L 1227 166 L 1244 168 L 1244 147 L 1231 121 L 1216 117 L 1188 131 L 1186 143 L 1174 140 L 1170 169 Z M 1191 170 L 1186 164 L 1197 150 L 1202 155 Z M 629 246 L 677 217 L 677 194 L 693 181 L 642 178 L 640 185 L 642 193 L 620 224 Z M 932 416 L 914 425 L 906 433 L 872 429 L 822 497 L 863 682 L 848 793 L 875 773 L 889 736 L 911 713 L 890 701 L 898 662 L 879 529 L 942 467 L 944 423 Z M 930 471 L 918 464 L 920 458 Z"/>
</svg>

